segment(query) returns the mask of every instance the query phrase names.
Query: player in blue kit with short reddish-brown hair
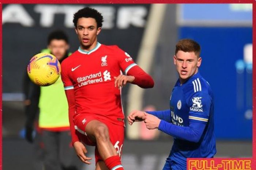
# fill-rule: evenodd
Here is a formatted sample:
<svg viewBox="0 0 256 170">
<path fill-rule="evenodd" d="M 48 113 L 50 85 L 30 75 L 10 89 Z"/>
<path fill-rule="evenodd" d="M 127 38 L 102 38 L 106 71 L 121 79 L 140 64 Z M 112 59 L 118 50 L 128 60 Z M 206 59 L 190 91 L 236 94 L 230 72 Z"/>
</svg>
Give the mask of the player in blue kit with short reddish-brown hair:
<svg viewBox="0 0 256 170">
<path fill-rule="evenodd" d="M 200 45 L 181 39 L 173 56 L 179 79 L 170 109 L 156 112 L 132 111 L 128 122 L 144 121 L 148 129 L 158 128 L 174 137 L 163 170 L 187 170 L 187 158 L 212 158 L 216 154 L 214 99 L 209 83 L 200 75 Z"/>
</svg>

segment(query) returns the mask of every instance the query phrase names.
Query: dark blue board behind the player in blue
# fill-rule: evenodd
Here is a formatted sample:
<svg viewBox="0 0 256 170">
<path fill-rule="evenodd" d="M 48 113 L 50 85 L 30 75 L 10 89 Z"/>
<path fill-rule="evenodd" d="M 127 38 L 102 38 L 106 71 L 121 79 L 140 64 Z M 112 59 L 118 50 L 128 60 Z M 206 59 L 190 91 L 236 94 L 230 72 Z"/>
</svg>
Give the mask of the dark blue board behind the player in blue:
<svg viewBox="0 0 256 170">
<path fill-rule="evenodd" d="M 243 58 L 244 47 L 252 44 L 252 28 L 181 27 L 179 32 L 180 38 L 201 45 L 199 70 L 214 91 L 217 138 L 251 139 L 252 65 Z"/>
</svg>

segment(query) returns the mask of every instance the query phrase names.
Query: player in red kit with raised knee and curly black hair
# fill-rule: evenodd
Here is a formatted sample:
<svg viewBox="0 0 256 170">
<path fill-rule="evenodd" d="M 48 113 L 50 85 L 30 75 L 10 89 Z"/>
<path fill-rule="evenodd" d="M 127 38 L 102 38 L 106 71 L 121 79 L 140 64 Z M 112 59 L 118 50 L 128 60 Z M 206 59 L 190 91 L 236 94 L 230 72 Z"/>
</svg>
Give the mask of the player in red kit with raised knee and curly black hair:
<svg viewBox="0 0 256 170">
<path fill-rule="evenodd" d="M 128 53 L 97 41 L 102 21 L 102 15 L 89 7 L 74 14 L 80 46 L 61 63 L 61 78 L 69 105 L 72 144 L 78 157 L 90 164 L 84 144 L 95 146 L 96 170 L 123 170 L 121 88 L 127 83 L 151 88 L 154 81 Z"/>
</svg>

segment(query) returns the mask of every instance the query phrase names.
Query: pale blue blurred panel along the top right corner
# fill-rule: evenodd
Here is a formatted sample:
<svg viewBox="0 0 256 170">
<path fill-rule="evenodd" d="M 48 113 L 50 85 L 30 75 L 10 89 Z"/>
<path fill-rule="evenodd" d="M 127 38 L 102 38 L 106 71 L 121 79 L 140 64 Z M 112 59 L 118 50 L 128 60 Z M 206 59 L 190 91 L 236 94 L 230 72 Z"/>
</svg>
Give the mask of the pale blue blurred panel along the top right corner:
<svg viewBox="0 0 256 170">
<path fill-rule="evenodd" d="M 251 24 L 252 4 L 181 4 L 179 22 Z"/>
</svg>

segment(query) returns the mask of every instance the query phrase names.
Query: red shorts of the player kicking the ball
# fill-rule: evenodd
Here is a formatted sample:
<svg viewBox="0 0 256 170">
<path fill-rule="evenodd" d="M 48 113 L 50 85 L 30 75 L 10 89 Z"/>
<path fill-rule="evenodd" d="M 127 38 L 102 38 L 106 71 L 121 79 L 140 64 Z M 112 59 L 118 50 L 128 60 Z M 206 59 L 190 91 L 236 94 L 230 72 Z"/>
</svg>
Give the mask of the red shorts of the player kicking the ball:
<svg viewBox="0 0 256 170">
<path fill-rule="evenodd" d="M 97 164 L 99 160 L 103 160 L 103 159 L 99 155 L 99 151 L 96 143 L 91 141 L 89 137 L 87 137 L 85 132 L 86 125 L 92 120 L 98 120 L 108 127 L 110 141 L 113 144 L 114 148 L 116 148 L 117 154 L 121 157 L 122 151 L 123 151 L 122 150 L 123 143 L 124 143 L 124 126 L 115 125 L 109 121 L 102 120 L 101 118 L 98 118 L 95 116 L 79 114 L 74 119 L 76 130 L 79 132 L 76 134 L 78 135 L 80 141 L 82 141 L 84 144 L 95 146 L 95 163 Z"/>
</svg>

